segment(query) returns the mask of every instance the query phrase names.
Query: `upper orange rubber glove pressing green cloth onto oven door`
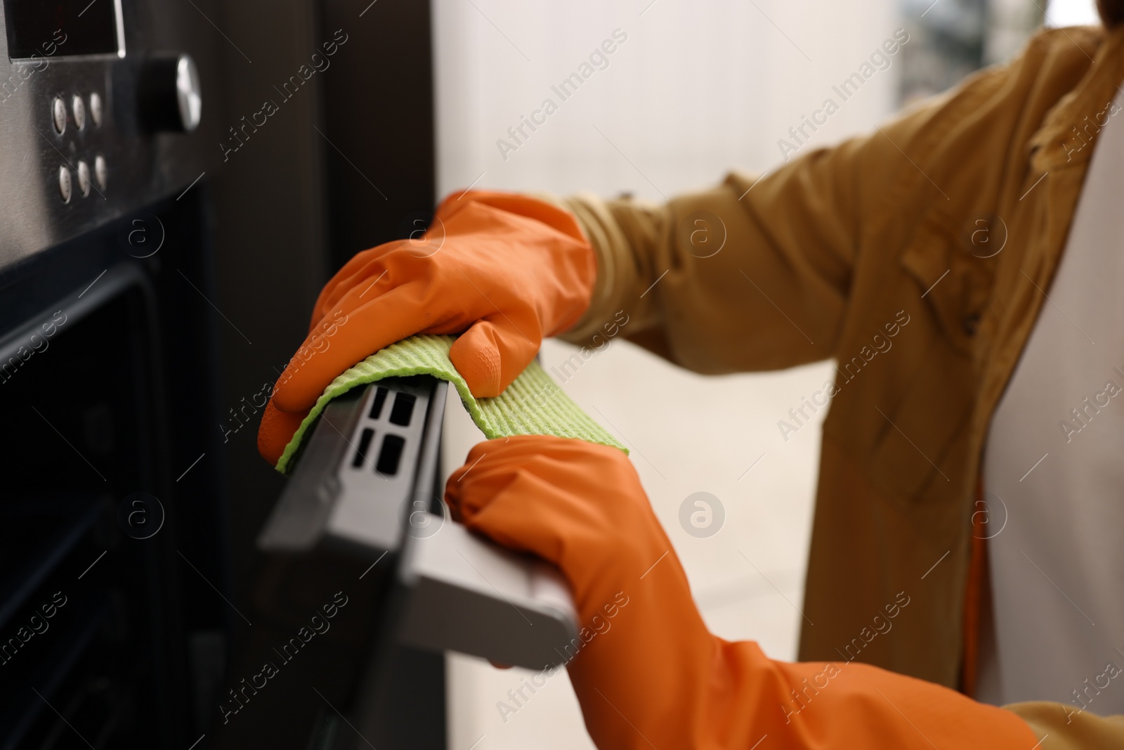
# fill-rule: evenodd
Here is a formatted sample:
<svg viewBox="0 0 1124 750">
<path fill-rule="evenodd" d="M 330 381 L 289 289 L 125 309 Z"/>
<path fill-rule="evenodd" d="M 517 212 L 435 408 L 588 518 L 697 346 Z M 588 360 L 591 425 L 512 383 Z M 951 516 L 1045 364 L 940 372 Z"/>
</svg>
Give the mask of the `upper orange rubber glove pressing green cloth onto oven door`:
<svg viewBox="0 0 1124 750">
<path fill-rule="evenodd" d="M 262 415 L 259 451 L 275 464 L 328 383 L 418 333 L 463 333 L 453 364 L 473 396 L 498 396 L 543 337 L 578 322 L 596 275 L 568 211 L 515 193 L 450 196 L 424 236 L 359 253 L 324 287 Z"/>
</svg>

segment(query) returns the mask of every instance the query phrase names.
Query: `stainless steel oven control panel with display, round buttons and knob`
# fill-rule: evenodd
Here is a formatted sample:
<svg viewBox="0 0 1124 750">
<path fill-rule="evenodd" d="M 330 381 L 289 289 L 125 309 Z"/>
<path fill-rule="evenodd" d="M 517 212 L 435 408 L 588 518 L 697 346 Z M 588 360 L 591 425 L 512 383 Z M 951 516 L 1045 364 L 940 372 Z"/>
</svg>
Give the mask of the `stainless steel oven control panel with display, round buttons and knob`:
<svg viewBox="0 0 1124 750">
<path fill-rule="evenodd" d="M 216 2 L 0 2 L 0 269 L 220 164 Z"/>
</svg>

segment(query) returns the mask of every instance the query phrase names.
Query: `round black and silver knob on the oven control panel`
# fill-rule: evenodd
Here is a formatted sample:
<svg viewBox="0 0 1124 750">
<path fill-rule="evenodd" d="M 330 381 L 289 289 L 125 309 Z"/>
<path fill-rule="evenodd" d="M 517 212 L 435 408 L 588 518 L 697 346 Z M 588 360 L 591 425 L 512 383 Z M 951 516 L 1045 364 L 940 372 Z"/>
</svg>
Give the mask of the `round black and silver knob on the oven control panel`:
<svg viewBox="0 0 1124 750">
<path fill-rule="evenodd" d="M 191 133 L 202 115 L 199 72 L 191 55 L 155 56 L 144 62 L 138 107 L 149 132 Z"/>
</svg>

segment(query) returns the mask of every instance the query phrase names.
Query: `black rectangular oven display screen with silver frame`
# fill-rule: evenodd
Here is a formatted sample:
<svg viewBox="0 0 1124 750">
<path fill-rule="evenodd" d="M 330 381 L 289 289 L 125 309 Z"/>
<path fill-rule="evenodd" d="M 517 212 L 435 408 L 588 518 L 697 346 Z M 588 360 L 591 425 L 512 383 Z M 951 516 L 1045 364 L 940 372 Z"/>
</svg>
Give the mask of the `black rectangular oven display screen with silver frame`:
<svg viewBox="0 0 1124 750">
<path fill-rule="evenodd" d="M 8 57 L 120 55 L 119 0 L 3 0 Z"/>
</svg>

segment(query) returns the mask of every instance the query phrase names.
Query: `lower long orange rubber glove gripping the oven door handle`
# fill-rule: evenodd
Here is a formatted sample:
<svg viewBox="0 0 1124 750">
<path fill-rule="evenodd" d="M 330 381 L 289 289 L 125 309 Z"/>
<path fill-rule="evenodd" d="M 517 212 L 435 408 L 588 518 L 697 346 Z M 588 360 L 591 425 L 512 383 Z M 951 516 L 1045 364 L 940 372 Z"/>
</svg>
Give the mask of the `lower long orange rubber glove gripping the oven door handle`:
<svg viewBox="0 0 1124 750">
<path fill-rule="evenodd" d="M 584 644 L 570 678 L 599 748 L 1031 750 L 1015 714 L 858 662 L 787 663 L 707 632 L 623 452 L 524 435 L 480 443 L 445 488 L 454 517 L 554 563 Z M 573 650 L 566 653 L 573 656 Z"/>
</svg>

